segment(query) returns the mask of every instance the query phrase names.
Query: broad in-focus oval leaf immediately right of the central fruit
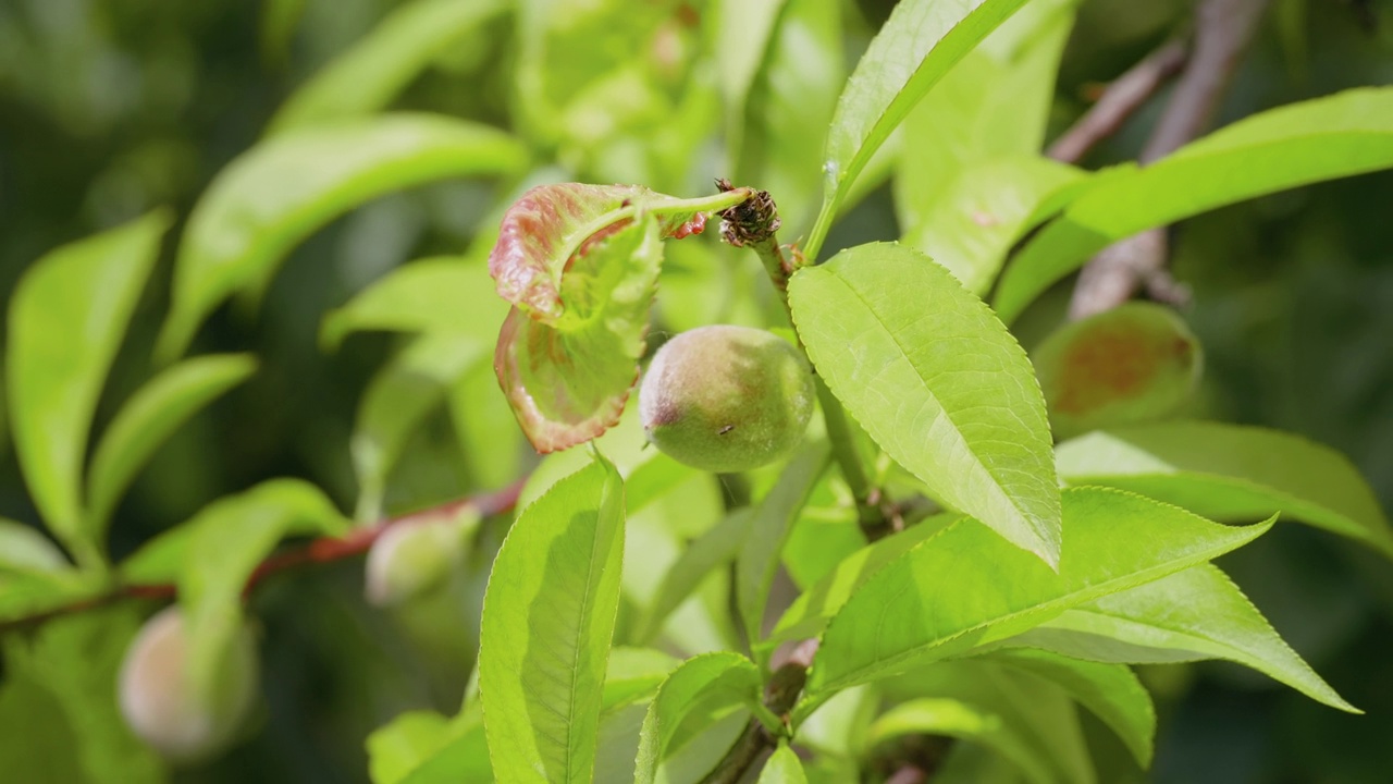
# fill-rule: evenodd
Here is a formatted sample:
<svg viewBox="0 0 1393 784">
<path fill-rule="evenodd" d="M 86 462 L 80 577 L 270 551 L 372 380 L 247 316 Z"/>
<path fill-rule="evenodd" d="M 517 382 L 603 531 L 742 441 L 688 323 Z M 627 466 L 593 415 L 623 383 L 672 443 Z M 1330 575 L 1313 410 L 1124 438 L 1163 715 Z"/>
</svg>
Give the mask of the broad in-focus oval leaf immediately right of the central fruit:
<svg viewBox="0 0 1393 784">
<path fill-rule="evenodd" d="M 947 505 L 1059 562 L 1045 400 L 981 300 L 918 251 L 872 243 L 798 271 L 788 303 L 818 372 L 886 453 Z"/>
</svg>

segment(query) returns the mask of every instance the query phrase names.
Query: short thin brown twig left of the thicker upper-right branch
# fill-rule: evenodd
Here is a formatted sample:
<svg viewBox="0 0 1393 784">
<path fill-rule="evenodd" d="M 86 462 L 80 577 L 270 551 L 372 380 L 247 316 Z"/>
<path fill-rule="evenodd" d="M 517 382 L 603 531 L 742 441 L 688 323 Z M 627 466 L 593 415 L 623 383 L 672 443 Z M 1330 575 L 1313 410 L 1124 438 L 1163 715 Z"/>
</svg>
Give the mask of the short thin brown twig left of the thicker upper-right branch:
<svg viewBox="0 0 1393 784">
<path fill-rule="evenodd" d="M 1152 52 L 1107 85 L 1094 107 L 1053 145 L 1049 155 L 1064 163 L 1078 163 L 1098 142 L 1112 137 L 1170 77 L 1180 73 L 1190 56 L 1184 40 L 1172 40 Z"/>
</svg>

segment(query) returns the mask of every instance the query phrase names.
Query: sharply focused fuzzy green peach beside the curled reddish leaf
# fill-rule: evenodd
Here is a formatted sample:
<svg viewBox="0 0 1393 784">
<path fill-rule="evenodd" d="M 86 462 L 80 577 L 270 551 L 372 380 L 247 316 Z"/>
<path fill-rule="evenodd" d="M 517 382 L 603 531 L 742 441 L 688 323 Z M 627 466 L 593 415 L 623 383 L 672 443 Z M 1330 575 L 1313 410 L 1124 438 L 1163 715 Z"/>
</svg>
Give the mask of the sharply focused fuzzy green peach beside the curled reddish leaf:
<svg viewBox="0 0 1393 784">
<path fill-rule="evenodd" d="M 638 392 L 648 439 L 680 463 L 720 473 L 772 463 L 802 441 L 815 389 L 808 361 L 779 336 L 701 326 L 657 350 Z"/>
</svg>

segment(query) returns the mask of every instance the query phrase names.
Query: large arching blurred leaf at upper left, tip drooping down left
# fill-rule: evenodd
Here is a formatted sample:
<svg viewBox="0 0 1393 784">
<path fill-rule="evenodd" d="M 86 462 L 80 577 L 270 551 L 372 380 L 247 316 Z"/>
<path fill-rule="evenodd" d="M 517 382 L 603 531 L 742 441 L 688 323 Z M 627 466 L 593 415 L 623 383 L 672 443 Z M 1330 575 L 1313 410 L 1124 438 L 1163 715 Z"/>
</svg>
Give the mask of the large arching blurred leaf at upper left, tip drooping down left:
<svg viewBox="0 0 1393 784">
<path fill-rule="evenodd" d="M 451 177 L 513 174 L 527 151 L 493 128 L 432 114 L 383 114 L 263 141 L 233 160 L 194 206 L 156 353 L 187 349 L 234 292 L 260 292 L 286 255 L 348 209 Z"/>
</svg>

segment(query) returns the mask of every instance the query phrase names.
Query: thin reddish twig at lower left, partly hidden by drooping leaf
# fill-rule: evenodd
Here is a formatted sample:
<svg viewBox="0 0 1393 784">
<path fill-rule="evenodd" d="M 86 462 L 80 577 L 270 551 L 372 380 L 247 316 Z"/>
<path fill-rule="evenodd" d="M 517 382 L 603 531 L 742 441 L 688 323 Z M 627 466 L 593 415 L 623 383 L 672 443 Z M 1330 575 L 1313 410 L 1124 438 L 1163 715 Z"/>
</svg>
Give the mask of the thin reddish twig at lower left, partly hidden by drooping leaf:
<svg viewBox="0 0 1393 784">
<path fill-rule="evenodd" d="M 343 561 L 345 558 L 352 558 L 355 555 L 362 555 L 372 548 L 373 543 L 386 533 L 387 529 L 396 525 L 401 525 L 410 520 L 418 520 L 422 518 L 435 518 L 440 515 L 450 515 L 464 509 L 465 506 L 474 506 L 481 515 L 500 515 L 513 509 L 517 505 L 518 494 L 522 491 L 522 484 L 525 480 L 518 480 L 508 487 L 495 491 L 483 492 L 479 495 L 472 495 L 468 498 L 460 498 L 433 506 L 430 509 L 423 509 L 419 512 L 412 512 L 410 515 L 403 515 L 400 518 L 391 518 L 382 520 L 369 527 L 354 529 L 341 537 L 325 536 L 313 538 L 309 543 L 299 545 L 293 550 L 286 550 L 283 552 L 273 554 L 267 557 L 256 569 L 252 571 L 247 578 L 247 585 L 242 587 L 242 596 L 251 593 L 266 578 L 302 566 L 305 564 L 329 564 L 333 561 Z M 68 615 L 72 612 L 82 612 L 86 610 L 95 610 L 99 607 L 106 607 L 116 601 L 125 598 L 176 598 L 178 596 L 178 586 L 174 583 L 124 583 L 114 586 L 110 591 L 81 598 L 71 604 L 63 607 L 56 607 L 53 610 L 46 610 L 43 612 L 36 612 L 25 618 L 15 618 L 0 624 L 0 635 L 25 628 L 36 626 L 45 621 L 57 618 L 60 615 Z"/>
</svg>

